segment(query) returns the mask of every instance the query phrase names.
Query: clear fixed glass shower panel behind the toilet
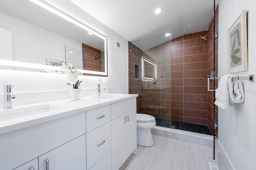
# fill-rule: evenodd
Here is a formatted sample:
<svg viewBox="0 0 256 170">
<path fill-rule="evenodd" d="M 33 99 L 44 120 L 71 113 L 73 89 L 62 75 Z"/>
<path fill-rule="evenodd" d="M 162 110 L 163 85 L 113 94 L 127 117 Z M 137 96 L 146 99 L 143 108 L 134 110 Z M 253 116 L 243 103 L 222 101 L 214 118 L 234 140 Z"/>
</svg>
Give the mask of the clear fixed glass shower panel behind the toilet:
<svg viewBox="0 0 256 170">
<path fill-rule="evenodd" d="M 129 92 L 139 95 L 137 113 L 156 117 L 157 125 L 171 127 L 171 35 L 129 43 L 129 65 L 140 65 L 140 80 L 129 70 Z M 135 88 L 136 86 L 136 88 Z"/>
</svg>

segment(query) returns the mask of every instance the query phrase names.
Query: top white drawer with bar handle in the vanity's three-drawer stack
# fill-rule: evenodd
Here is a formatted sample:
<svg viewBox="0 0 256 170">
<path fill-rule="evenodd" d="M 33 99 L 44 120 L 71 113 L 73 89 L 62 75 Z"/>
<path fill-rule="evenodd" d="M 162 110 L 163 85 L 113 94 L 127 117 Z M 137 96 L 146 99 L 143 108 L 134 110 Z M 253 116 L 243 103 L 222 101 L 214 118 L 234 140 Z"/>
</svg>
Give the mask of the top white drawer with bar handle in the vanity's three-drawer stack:
<svg viewBox="0 0 256 170">
<path fill-rule="evenodd" d="M 110 105 L 86 111 L 86 133 L 110 121 Z"/>
</svg>

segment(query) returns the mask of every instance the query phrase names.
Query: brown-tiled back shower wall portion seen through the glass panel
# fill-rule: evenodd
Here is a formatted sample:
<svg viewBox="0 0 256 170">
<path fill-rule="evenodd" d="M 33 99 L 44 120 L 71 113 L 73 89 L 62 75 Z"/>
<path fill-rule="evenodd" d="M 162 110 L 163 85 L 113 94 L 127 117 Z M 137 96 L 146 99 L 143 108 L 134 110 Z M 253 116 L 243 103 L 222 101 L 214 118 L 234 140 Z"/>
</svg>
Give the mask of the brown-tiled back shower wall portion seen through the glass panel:
<svg viewBox="0 0 256 170">
<path fill-rule="evenodd" d="M 145 114 L 171 120 L 171 42 L 144 51 L 143 57 L 156 64 L 157 82 L 143 80 Z"/>
</svg>

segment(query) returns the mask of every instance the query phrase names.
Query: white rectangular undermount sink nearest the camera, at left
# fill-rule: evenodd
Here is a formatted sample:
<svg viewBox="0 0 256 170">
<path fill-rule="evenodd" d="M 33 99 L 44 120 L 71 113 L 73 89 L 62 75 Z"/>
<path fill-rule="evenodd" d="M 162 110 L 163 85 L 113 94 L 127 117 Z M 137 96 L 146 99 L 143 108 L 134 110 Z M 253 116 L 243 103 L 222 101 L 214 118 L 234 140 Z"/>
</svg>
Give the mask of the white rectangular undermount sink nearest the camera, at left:
<svg viewBox="0 0 256 170">
<path fill-rule="evenodd" d="M 30 115 L 36 115 L 40 113 L 45 113 L 48 111 L 54 111 L 57 109 L 63 109 L 62 106 L 44 104 L 39 106 L 30 106 L 30 107 L 23 107 L 23 108 L 13 108 L 13 109 L 4 109 L 0 111 L 0 120 L 6 121 L 11 119 L 16 119 L 20 117 L 26 117 Z"/>
</svg>

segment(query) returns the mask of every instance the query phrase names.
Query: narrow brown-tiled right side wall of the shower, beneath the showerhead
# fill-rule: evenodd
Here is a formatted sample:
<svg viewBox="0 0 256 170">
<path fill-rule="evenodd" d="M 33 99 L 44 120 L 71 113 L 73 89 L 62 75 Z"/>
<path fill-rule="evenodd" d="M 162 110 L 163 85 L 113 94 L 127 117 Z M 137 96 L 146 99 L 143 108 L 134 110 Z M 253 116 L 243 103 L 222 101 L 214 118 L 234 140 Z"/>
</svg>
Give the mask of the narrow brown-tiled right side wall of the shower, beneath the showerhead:
<svg viewBox="0 0 256 170">
<path fill-rule="evenodd" d="M 215 11 L 215 32 L 218 33 L 218 7 Z M 213 20 L 210 23 L 208 32 L 213 33 Z M 213 72 L 213 39 L 214 35 L 210 34 L 208 38 L 208 73 Z M 215 76 L 218 77 L 218 39 L 215 39 Z M 218 80 L 215 81 L 215 88 L 218 87 Z M 213 81 L 210 81 L 210 89 L 213 89 Z M 213 133 L 213 92 L 208 92 L 208 126 Z M 215 106 L 215 121 L 218 123 L 218 106 Z M 218 136 L 218 129 L 215 131 Z"/>
</svg>

